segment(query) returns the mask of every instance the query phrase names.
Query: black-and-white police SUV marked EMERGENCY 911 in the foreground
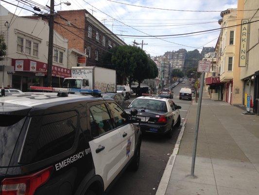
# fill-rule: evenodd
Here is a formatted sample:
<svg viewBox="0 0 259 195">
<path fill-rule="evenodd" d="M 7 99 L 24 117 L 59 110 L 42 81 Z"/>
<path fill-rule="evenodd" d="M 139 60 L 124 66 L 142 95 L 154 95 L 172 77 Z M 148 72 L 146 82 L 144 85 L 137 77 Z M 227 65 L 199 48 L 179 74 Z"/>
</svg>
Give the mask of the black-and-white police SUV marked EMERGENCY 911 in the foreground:
<svg viewBox="0 0 259 195">
<path fill-rule="evenodd" d="M 103 195 L 138 169 L 139 119 L 114 100 L 60 92 L 0 102 L 0 195 Z"/>
</svg>

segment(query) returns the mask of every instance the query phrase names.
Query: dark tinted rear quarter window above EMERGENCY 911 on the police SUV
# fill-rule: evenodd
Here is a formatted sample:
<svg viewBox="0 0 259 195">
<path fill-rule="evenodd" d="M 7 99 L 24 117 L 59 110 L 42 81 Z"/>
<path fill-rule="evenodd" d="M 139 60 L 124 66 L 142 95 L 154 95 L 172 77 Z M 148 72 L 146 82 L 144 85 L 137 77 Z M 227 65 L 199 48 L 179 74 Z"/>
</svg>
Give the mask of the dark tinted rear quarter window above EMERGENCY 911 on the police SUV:
<svg viewBox="0 0 259 195">
<path fill-rule="evenodd" d="M 75 111 L 32 117 L 20 162 L 37 162 L 69 150 L 76 129 Z"/>
</svg>

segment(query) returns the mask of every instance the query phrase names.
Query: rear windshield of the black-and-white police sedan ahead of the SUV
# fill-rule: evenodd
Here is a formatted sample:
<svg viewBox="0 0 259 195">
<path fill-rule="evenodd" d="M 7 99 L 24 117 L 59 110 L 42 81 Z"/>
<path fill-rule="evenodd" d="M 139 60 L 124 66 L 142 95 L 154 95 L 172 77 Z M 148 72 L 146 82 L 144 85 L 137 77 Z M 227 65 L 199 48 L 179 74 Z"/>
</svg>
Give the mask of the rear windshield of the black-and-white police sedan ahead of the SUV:
<svg viewBox="0 0 259 195">
<path fill-rule="evenodd" d="M 135 99 L 129 107 L 136 109 L 144 108 L 146 110 L 167 112 L 166 102 L 156 99 Z"/>
</svg>

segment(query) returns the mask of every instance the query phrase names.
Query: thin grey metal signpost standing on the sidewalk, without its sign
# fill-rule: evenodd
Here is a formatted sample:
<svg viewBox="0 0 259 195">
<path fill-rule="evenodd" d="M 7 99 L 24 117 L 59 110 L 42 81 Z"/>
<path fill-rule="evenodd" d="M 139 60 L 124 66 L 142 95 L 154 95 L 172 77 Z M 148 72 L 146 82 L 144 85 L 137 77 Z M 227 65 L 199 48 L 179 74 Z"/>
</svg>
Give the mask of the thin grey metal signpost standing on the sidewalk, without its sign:
<svg viewBox="0 0 259 195">
<path fill-rule="evenodd" d="M 194 143 L 193 143 L 192 160 L 191 160 L 191 171 L 190 171 L 190 175 L 191 176 L 194 176 L 194 167 L 195 167 L 198 131 L 199 131 L 201 106 L 202 106 L 202 93 L 203 93 L 204 77 L 205 77 L 205 72 L 202 73 L 200 92 L 199 92 L 198 110 L 197 110 L 197 115 L 196 115 L 196 124 L 195 124 L 195 132 L 194 132 Z"/>
</svg>

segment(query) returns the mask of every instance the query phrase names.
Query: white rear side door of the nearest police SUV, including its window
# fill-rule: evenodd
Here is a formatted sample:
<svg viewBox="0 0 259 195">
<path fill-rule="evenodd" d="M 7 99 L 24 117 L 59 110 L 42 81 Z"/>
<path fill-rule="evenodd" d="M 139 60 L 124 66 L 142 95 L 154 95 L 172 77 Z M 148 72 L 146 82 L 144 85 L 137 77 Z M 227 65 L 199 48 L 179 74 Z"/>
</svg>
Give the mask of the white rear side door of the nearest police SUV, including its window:
<svg viewBox="0 0 259 195">
<path fill-rule="evenodd" d="M 87 105 L 90 131 L 89 141 L 95 174 L 103 178 L 104 190 L 121 171 L 121 134 L 115 129 L 110 113 L 103 103 Z"/>
</svg>

